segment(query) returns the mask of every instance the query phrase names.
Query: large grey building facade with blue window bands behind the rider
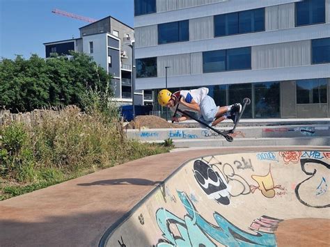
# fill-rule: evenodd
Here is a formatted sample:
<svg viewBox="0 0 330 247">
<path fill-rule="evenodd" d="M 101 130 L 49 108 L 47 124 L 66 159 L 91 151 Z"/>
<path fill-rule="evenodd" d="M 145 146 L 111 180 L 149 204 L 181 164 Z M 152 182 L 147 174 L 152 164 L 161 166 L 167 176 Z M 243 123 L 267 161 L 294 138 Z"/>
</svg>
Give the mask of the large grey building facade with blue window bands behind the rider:
<svg viewBox="0 0 330 247">
<path fill-rule="evenodd" d="M 136 89 L 165 88 L 168 67 L 171 90 L 250 97 L 245 118 L 330 117 L 330 0 L 135 0 L 134 14 Z"/>
</svg>

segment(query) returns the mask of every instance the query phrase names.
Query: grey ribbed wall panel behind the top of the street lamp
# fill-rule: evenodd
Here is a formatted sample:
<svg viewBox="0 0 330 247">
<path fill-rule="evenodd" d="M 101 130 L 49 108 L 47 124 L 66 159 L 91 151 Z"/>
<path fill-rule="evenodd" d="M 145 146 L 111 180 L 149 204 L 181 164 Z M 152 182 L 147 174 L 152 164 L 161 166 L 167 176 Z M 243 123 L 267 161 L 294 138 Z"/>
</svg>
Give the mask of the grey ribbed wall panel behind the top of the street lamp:
<svg viewBox="0 0 330 247">
<path fill-rule="evenodd" d="M 159 56 L 157 58 L 157 76 L 165 77 L 165 67 L 167 76 L 190 74 L 190 54 L 182 54 L 175 56 Z"/>
</svg>

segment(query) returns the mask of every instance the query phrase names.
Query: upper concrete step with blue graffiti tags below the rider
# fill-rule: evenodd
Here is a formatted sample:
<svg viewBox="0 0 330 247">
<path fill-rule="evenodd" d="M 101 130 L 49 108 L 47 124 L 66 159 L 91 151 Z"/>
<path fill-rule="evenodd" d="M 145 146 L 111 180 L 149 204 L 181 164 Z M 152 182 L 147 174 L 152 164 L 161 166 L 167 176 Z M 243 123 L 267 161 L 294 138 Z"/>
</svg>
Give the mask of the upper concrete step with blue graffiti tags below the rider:
<svg viewBox="0 0 330 247">
<path fill-rule="evenodd" d="M 231 127 L 217 128 L 228 130 Z M 296 138 L 296 137 L 322 137 L 330 136 L 330 125 L 292 125 L 292 126 L 253 126 L 237 127 L 234 138 Z M 173 140 L 222 140 L 223 137 L 209 129 L 128 129 L 127 137 L 140 141 L 163 141 L 167 138 Z"/>
</svg>

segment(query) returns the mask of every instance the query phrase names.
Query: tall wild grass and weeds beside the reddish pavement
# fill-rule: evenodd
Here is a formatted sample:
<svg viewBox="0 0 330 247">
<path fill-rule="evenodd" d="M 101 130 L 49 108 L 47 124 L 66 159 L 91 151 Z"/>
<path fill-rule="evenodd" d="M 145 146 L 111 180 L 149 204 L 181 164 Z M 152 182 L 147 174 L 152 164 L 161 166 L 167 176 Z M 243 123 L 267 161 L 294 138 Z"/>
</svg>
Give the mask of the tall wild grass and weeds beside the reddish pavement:
<svg viewBox="0 0 330 247">
<path fill-rule="evenodd" d="M 95 99 L 93 99 L 95 97 Z M 89 95 L 83 113 L 76 106 L 50 111 L 36 125 L 0 127 L 0 200 L 122 164 L 168 148 L 130 141 L 115 106 Z"/>
</svg>

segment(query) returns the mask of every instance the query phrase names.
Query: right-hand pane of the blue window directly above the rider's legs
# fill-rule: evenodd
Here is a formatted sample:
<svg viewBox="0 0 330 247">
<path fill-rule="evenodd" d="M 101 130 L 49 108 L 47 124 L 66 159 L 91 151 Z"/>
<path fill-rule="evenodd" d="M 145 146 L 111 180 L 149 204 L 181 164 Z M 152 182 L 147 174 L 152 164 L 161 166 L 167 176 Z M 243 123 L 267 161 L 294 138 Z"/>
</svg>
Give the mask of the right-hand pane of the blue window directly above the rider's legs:
<svg viewBox="0 0 330 247">
<path fill-rule="evenodd" d="M 226 70 L 251 69 L 251 47 L 228 49 Z"/>
</svg>

